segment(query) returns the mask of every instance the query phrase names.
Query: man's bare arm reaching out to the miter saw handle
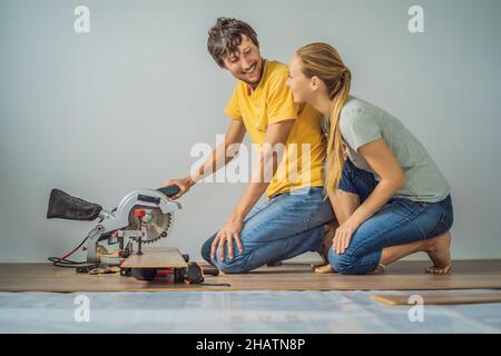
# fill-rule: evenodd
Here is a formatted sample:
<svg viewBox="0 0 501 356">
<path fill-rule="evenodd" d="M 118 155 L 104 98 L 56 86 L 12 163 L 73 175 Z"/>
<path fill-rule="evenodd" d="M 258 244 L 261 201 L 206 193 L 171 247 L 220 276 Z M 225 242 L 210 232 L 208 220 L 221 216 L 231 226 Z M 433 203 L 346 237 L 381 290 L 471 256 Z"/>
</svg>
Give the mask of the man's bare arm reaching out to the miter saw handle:
<svg viewBox="0 0 501 356">
<path fill-rule="evenodd" d="M 242 120 L 232 120 L 228 129 L 225 134 L 225 139 L 220 142 L 213 151 L 213 154 L 207 157 L 207 159 L 187 177 L 180 179 L 167 179 L 164 186 L 176 185 L 179 187 L 179 192 L 173 196 L 173 199 L 181 197 L 185 192 L 189 190 L 197 181 L 204 179 L 205 177 L 216 172 L 218 169 L 228 164 L 236 155 L 227 156 L 226 150 L 230 145 L 242 144 L 244 136 L 246 134 L 244 122 Z"/>
</svg>

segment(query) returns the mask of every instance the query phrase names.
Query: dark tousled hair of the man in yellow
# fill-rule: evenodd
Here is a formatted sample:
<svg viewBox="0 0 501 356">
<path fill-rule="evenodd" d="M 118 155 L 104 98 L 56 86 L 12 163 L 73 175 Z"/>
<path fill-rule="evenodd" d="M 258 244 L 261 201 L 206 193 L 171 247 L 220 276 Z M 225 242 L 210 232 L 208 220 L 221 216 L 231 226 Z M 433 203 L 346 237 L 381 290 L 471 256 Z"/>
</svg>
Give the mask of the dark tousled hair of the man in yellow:
<svg viewBox="0 0 501 356">
<path fill-rule="evenodd" d="M 246 22 L 232 19 L 218 18 L 208 31 L 207 49 L 220 68 L 225 67 L 224 58 L 237 51 L 242 43 L 242 36 L 247 36 L 254 44 L 259 47 L 256 31 Z"/>
</svg>

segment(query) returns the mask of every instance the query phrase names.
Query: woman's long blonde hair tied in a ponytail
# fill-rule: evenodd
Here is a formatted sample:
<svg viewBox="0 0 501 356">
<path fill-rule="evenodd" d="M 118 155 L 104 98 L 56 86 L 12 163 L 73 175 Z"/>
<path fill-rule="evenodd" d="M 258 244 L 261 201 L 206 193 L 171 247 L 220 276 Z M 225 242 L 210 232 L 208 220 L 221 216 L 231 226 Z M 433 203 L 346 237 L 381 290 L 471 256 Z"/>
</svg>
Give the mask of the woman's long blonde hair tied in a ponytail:
<svg viewBox="0 0 501 356">
<path fill-rule="evenodd" d="M 336 191 L 344 166 L 344 149 L 340 130 L 340 115 L 350 93 L 352 75 L 340 53 L 330 44 L 311 43 L 296 51 L 302 71 L 307 78 L 318 77 L 326 88 L 331 103 L 327 140 L 327 172 L 325 191 Z"/>
</svg>

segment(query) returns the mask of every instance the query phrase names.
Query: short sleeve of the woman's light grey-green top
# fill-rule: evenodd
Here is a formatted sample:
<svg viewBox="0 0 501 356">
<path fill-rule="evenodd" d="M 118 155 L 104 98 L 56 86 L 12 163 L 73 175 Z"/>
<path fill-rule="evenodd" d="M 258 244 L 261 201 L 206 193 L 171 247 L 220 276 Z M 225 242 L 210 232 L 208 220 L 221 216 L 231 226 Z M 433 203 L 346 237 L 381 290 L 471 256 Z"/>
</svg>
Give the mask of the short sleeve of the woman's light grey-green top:
<svg viewBox="0 0 501 356">
<path fill-rule="evenodd" d="M 375 115 L 361 108 L 343 110 L 340 117 L 340 129 L 346 144 L 355 151 L 361 146 L 383 137 Z"/>
</svg>

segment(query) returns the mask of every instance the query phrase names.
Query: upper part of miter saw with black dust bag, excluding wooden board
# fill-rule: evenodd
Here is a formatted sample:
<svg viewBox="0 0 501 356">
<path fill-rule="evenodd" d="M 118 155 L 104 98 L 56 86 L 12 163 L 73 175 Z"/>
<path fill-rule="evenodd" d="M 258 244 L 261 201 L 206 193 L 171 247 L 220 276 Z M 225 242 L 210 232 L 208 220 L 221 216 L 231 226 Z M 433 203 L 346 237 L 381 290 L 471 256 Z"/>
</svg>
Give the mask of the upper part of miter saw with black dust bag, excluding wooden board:
<svg viewBox="0 0 501 356">
<path fill-rule="evenodd" d="M 181 208 L 179 202 L 169 197 L 178 191 L 177 186 L 134 190 L 121 199 L 118 207 L 108 211 L 100 205 L 52 189 L 47 218 L 88 221 L 99 218 L 85 239 L 87 263 L 119 265 L 132 251 L 132 241 L 137 243 L 137 254 L 141 255 L 143 244 L 155 243 L 169 235 L 174 211 Z M 102 243 L 118 244 L 118 250 L 109 254 Z"/>
</svg>

